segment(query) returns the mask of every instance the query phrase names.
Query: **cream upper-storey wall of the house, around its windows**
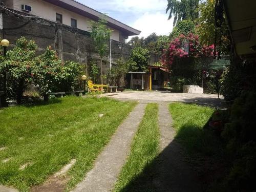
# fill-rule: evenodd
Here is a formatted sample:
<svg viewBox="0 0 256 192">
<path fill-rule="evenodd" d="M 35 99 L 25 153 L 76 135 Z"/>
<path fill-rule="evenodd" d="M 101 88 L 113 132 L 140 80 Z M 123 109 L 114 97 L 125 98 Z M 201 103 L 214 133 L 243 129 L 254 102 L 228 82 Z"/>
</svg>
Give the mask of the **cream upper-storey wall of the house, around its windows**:
<svg viewBox="0 0 256 192">
<path fill-rule="evenodd" d="M 17 11 L 22 11 L 22 5 L 24 4 L 29 5 L 32 7 L 31 14 L 53 22 L 56 21 L 56 13 L 59 13 L 62 15 L 62 23 L 65 25 L 71 26 L 71 18 L 73 18 L 77 20 L 78 29 L 89 31 L 91 28 L 89 23 L 91 19 L 41 0 L 6 0 L 5 4 Z M 119 31 L 113 28 L 111 29 L 113 30 L 111 38 L 119 41 Z"/>
</svg>

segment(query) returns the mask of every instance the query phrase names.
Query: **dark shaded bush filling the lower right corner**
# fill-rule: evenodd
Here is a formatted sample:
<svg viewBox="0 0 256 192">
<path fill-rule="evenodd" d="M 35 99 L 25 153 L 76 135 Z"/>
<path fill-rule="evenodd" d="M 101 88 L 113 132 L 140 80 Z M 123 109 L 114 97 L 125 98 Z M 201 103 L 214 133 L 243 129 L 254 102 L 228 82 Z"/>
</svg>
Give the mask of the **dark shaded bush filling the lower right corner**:
<svg viewBox="0 0 256 192">
<path fill-rule="evenodd" d="M 253 191 L 256 180 L 256 93 L 245 92 L 230 110 L 222 137 L 232 168 L 226 178 L 231 191 Z"/>
</svg>

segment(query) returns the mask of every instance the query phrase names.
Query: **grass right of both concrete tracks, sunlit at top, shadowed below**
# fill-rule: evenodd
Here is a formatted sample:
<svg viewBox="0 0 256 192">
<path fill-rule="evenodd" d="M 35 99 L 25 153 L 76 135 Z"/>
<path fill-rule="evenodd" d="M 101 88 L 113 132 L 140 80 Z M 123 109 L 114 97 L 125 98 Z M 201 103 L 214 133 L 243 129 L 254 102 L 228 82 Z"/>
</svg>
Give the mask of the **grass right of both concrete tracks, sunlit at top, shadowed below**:
<svg viewBox="0 0 256 192">
<path fill-rule="evenodd" d="M 221 191 L 225 164 L 224 146 L 209 127 L 204 129 L 214 109 L 196 104 L 171 103 L 170 113 L 177 131 L 176 139 L 184 146 L 187 160 L 197 172 L 204 191 Z"/>
</svg>

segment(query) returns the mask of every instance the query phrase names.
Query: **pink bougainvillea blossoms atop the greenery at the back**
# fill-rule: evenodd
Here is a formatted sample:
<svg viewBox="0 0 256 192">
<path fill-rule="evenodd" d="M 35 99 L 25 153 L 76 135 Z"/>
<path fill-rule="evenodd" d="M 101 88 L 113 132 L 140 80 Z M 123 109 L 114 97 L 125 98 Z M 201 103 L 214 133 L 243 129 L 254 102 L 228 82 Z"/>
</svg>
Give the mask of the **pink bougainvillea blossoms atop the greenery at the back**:
<svg viewBox="0 0 256 192">
<path fill-rule="evenodd" d="M 199 57 L 201 55 L 213 56 L 214 45 L 202 46 L 197 35 L 189 33 L 184 36 L 181 34 L 170 42 L 167 49 L 163 50 L 162 65 L 172 65 L 175 57 Z"/>
</svg>

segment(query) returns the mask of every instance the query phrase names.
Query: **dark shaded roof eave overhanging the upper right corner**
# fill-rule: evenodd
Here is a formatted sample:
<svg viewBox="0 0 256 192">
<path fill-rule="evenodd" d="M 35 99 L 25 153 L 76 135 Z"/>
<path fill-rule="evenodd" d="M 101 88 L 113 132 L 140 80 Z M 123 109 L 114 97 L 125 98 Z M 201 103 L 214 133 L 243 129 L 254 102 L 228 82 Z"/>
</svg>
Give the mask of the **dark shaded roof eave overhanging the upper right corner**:
<svg viewBox="0 0 256 192">
<path fill-rule="evenodd" d="M 224 0 L 232 41 L 239 56 L 256 55 L 256 1 Z"/>
</svg>

